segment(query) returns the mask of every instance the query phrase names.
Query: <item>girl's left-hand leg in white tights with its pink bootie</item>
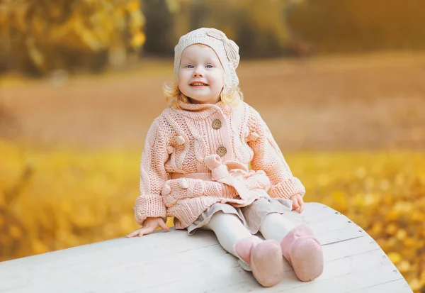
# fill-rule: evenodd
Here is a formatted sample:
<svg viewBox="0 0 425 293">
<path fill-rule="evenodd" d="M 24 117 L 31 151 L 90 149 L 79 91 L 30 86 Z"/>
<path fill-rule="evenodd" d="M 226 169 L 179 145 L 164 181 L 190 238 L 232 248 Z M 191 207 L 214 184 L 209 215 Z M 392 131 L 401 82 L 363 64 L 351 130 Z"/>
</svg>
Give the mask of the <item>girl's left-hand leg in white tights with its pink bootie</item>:
<svg viewBox="0 0 425 293">
<path fill-rule="evenodd" d="M 252 274 L 264 287 L 283 279 L 283 262 L 277 241 L 262 241 L 252 235 L 234 214 L 219 211 L 203 228 L 214 231 L 220 245 L 251 267 Z"/>
</svg>

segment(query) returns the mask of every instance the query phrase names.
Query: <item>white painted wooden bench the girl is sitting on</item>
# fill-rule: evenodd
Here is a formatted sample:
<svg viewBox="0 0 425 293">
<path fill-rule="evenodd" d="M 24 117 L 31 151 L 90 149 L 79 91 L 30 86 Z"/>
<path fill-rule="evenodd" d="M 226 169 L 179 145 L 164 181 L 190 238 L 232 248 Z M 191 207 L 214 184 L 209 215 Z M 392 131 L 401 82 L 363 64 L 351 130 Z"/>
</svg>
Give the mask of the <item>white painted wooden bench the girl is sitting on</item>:
<svg viewBox="0 0 425 293">
<path fill-rule="evenodd" d="M 210 231 L 159 231 L 0 262 L 0 292 L 412 292 L 373 238 L 346 216 L 317 203 L 295 224 L 308 223 L 322 242 L 323 274 L 300 282 L 285 262 L 285 279 L 261 287 Z"/>
</svg>

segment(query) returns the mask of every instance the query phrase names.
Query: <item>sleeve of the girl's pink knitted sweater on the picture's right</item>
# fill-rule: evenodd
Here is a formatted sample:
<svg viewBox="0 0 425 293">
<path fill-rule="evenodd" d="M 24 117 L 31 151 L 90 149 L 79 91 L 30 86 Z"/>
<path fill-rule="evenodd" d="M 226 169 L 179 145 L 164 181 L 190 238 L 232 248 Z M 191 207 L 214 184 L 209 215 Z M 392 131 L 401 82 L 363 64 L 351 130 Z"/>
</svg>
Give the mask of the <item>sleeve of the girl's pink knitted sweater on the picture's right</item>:
<svg viewBox="0 0 425 293">
<path fill-rule="evenodd" d="M 253 170 L 263 170 L 266 172 L 271 182 L 271 189 L 269 189 L 268 194 L 271 197 L 285 199 L 289 199 L 296 194 L 304 196 L 305 187 L 299 179 L 293 177 L 266 122 L 252 108 L 248 127 L 250 131 L 248 144 L 254 150 L 251 167 Z"/>
</svg>

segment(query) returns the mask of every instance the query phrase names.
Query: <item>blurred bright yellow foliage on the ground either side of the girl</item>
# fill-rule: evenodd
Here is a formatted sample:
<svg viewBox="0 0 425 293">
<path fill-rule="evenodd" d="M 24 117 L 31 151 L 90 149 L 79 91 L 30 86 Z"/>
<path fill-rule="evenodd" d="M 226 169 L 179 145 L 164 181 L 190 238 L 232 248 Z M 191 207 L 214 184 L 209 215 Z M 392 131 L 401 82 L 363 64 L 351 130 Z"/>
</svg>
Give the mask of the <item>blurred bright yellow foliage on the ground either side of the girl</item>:
<svg viewBox="0 0 425 293">
<path fill-rule="evenodd" d="M 138 228 L 141 150 L 38 150 L 0 140 L 0 260 L 125 236 Z M 375 238 L 415 291 L 425 286 L 425 155 L 292 153 L 317 201 Z M 172 226 L 172 220 L 167 223 Z"/>
</svg>

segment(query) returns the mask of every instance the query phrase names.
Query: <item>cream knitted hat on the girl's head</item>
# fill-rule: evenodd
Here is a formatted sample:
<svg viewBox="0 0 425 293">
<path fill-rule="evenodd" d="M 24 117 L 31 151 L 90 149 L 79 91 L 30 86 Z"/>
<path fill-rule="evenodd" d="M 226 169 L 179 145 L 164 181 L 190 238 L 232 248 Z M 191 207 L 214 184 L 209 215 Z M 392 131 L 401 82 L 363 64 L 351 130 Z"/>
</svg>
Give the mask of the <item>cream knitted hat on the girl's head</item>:
<svg viewBox="0 0 425 293">
<path fill-rule="evenodd" d="M 174 75 L 179 77 L 179 67 L 181 54 L 193 44 L 208 45 L 217 54 L 223 69 L 225 70 L 225 85 L 236 87 L 239 79 L 236 75 L 236 68 L 239 65 L 239 47 L 233 40 L 229 40 L 225 33 L 215 28 L 198 28 L 195 31 L 183 35 L 179 43 L 174 48 Z"/>
</svg>

